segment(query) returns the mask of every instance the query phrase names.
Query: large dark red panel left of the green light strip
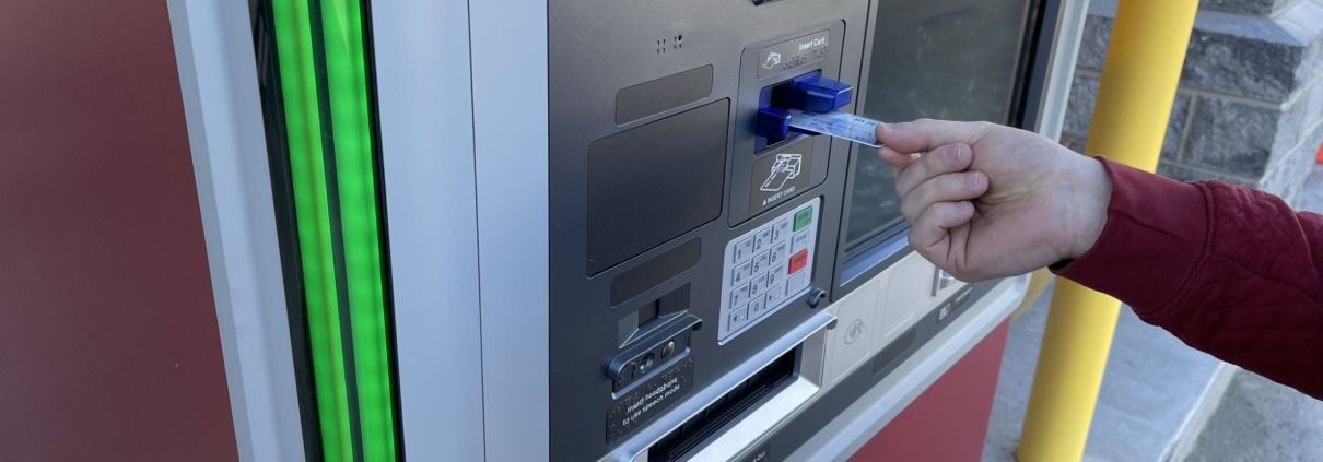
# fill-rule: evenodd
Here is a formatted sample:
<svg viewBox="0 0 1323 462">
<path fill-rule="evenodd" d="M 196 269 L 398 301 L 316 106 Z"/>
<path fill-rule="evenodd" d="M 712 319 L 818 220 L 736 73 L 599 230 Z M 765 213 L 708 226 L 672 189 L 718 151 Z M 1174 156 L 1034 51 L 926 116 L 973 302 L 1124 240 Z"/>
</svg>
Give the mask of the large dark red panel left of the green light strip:
<svg viewBox="0 0 1323 462">
<path fill-rule="evenodd" d="M 165 1 L 0 0 L 0 461 L 235 458 Z"/>
</svg>

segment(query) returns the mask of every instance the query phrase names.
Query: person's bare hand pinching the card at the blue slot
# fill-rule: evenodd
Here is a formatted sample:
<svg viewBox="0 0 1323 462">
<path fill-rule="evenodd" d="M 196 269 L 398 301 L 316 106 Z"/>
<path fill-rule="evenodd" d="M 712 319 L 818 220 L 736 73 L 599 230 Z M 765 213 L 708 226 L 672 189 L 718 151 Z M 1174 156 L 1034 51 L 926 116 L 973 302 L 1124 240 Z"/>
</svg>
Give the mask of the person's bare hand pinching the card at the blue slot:
<svg viewBox="0 0 1323 462">
<path fill-rule="evenodd" d="M 909 243 L 963 281 L 1074 259 L 1106 223 L 1102 164 L 1037 133 L 991 123 L 878 124 Z M 926 154 L 922 154 L 925 153 Z"/>
</svg>

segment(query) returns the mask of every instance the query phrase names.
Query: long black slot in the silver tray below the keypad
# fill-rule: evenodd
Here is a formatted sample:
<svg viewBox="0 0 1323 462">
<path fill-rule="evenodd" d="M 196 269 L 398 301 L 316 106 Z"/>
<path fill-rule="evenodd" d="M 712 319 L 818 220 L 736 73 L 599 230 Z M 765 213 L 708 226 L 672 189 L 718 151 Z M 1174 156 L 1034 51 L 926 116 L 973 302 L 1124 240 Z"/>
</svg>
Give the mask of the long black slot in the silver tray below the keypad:
<svg viewBox="0 0 1323 462">
<path fill-rule="evenodd" d="M 708 437 L 721 430 L 732 420 L 775 391 L 782 383 L 794 376 L 794 374 L 795 350 L 791 350 L 755 372 L 749 380 L 736 385 L 729 393 L 717 399 L 699 414 L 691 417 L 680 428 L 662 437 L 658 444 L 648 449 L 648 461 L 679 461 L 708 440 Z"/>
</svg>

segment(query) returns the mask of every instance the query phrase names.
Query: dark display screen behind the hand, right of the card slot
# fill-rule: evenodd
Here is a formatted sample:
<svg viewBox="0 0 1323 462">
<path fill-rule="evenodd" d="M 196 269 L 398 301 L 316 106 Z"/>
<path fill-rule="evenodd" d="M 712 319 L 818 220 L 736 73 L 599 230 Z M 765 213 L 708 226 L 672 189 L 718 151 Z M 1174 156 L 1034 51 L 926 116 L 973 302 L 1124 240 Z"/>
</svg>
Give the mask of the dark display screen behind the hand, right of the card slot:
<svg viewBox="0 0 1323 462">
<path fill-rule="evenodd" d="M 882 0 L 876 15 L 863 115 L 1013 123 L 1021 50 L 1033 0 Z M 845 249 L 868 247 L 902 222 L 892 169 L 860 149 Z"/>
</svg>

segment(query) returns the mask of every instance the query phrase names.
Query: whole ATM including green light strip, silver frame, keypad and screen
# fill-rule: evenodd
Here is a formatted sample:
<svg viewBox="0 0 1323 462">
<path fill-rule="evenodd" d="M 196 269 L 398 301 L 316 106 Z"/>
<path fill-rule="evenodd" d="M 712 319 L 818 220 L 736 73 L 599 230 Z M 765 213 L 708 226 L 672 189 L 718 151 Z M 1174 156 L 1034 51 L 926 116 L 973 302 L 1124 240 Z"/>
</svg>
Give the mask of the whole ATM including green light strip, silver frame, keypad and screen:
<svg viewBox="0 0 1323 462">
<path fill-rule="evenodd" d="M 246 378 L 243 428 L 284 433 L 241 446 L 851 457 L 1005 322 L 1027 276 L 966 284 L 925 261 L 873 149 L 787 129 L 786 111 L 1054 137 L 1085 4 L 261 0 L 235 24 L 234 5 L 173 3 L 197 69 L 243 78 L 216 50 L 251 32 L 259 96 L 185 75 L 194 144 L 261 125 L 266 152 L 194 156 L 261 164 L 246 172 L 270 185 L 239 187 L 274 198 L 262 231 L 280 236 L 263 257 L 288 337 L 267 341 L 294 360 L 234 348 L 226 367 Z M 263 389 L 298 400 L 255 412 Z"/>
</svg>

